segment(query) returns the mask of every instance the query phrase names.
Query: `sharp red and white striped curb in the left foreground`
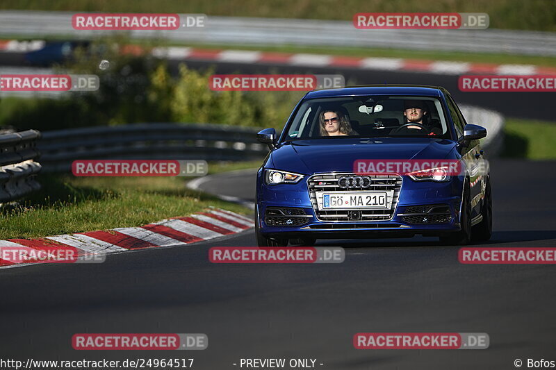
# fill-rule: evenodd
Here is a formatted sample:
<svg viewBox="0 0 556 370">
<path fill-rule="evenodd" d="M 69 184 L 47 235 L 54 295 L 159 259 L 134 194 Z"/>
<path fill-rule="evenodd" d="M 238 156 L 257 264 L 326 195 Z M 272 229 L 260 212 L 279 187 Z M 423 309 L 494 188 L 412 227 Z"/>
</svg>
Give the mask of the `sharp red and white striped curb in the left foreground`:
<svg viewBox="0 0 556 370">
<path fill-rule="evenodd" d="M 114 228 L 70 235 L 57 235 L 38 239 L 0 240 L 2 249 L 37 253 L 53 253 L 56 248 L 71 249 L 76 255 L 121 253 L 161 246 L 180 246 L 240 233 L 254 227 L 252 219 L 220 208 L 209 208 L 189 217 L 174 217 L 135 228 Z M 34 250 L 34 251 L 33 251 Z M 0 253 L 0 269 L 19 267 L 39 262 L 22 262 Z"/>
</svg>

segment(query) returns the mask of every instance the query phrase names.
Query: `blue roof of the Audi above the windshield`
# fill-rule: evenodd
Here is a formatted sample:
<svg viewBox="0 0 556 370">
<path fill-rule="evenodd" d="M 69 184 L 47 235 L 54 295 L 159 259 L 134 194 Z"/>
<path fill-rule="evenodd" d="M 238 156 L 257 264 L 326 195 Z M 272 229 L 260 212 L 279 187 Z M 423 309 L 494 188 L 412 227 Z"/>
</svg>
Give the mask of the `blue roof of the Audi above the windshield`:
<svg viewBox="0 0 556 370">
<path fill-rule="evenodd" d="M 304 99 L 327 98 L 333 96 L 354 95 L 417 95 L 441 96 L 448 93 L 441 86 L 428 85 L 361 85 L 346 86 L 339 89 L 313 90 L 308 92 Z"/>
</svg>

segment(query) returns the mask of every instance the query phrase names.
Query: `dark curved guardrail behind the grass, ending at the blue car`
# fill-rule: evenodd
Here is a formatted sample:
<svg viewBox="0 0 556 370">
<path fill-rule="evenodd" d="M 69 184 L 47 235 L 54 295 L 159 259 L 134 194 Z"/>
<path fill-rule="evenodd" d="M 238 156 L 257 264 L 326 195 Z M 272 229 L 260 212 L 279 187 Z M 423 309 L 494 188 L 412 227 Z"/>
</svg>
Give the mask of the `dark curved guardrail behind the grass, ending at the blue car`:
<svg viewBox="0 0 556 370">
<path fill-rule="evenodd" d="M 128 124 L 45 131 L 39 145 L 43 172 L 70 171 L 74 160 L 252 160 L 268 148 L 256 128 L 213 124 Z"/>
</svg>

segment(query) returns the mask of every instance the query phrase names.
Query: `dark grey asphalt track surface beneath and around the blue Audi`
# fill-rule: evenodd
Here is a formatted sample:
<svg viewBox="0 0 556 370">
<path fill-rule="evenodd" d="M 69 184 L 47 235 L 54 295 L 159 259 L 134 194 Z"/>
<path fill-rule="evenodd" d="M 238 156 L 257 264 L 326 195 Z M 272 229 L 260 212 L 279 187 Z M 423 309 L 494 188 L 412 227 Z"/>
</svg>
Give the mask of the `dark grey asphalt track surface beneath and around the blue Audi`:
<svg viewBox="0 0 556 370">
<path fill-rule="evenodd" d="M 493 239 L 555 246 L 556 162 L 492 163 Z M 252 199 L 254 177 L 220 175 L 209 191 Z M 235 190 L 238 190 L 237 192 Z M 252 230 L 199 244 L 0 274 L 0 358 L 316 358 L 322 369 L 514 369 L 556 360 L 554 265 L 464 265 L 434 238 L 332 240 L 342 264 L 211 264 L 210 246 L 253 246 Z M 488 333 L 477 351 L 356 350 L 359 332 Z M 74 351 L 74 333 L 206 333 L 205 351 Z M 552 357 L 552 358 L 551 358 Z M 524 364 L 524 368 L 526 365 Z"/>
</svg>

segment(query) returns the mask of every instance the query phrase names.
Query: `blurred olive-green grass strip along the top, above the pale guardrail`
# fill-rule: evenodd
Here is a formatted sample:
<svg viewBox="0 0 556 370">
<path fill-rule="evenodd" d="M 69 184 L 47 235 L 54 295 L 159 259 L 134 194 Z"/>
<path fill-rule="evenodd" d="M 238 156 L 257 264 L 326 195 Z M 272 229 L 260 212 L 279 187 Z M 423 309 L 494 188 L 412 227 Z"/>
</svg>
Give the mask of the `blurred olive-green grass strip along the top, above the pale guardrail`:
<svg viewBox="0 0 556 370">
<path fill-rule="evenodd" d="M 357 12 L 486 12 L 491 28 L 556 31 L 550 0 L 3 0 L 0 8 L 331 20 L 351 20 Z"/>
</svg>

